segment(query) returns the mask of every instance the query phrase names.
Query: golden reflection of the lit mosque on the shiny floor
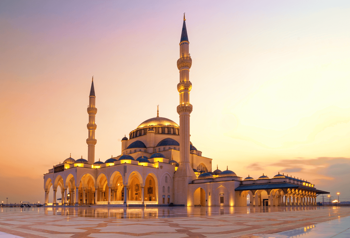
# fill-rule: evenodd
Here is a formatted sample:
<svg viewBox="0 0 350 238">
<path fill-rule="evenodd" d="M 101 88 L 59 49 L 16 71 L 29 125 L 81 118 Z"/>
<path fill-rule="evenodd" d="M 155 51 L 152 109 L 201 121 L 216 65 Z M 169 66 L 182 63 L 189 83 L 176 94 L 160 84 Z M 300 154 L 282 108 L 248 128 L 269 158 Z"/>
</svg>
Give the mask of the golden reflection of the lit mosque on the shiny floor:
<svg viewBox="0 0 350 238">
<path fill-rule="evenodd" d="M 96 218 L 174 218 L 174 217 L 202 217 L 223 216 L 233 214 L 251 214 L 260 212 L 288 212 L 316 210 L 322 207 L 40 207 L 40 208 L 12 208 L 23 212 L 38 210 L 39 214 L 96 217 Z"/>
</svg>

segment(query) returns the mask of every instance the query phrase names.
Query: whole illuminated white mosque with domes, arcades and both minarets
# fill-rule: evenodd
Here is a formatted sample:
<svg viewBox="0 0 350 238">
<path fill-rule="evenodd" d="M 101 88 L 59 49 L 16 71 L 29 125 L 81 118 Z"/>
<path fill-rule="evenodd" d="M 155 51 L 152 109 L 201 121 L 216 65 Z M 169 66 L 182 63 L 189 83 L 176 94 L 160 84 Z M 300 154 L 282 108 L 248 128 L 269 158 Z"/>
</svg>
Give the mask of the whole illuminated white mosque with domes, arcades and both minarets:
<svg viewBox="0 0 350 238">
<path fill-rule="evenodd" d="M 317 195 L 328 194 L 307 180 L 280 173 L 271 179 L 264 174 L 243 179 L 228 167 L 212 171 L 212 159 L 202 156 L 190 141 L 189 44 L 184 17 L 177 60 L 180 125 L 160 117 L 157 110 L 156 117 L 145 120 L 121 140 L 121 154 L 106 161 L 95 161 L 97 107 L 92 78 L 87 160 L 69 157 L 44 174 L 45 205 L 315 206 Z M 56 202 L 58 187 L 61 203 Z"/>
</svg>

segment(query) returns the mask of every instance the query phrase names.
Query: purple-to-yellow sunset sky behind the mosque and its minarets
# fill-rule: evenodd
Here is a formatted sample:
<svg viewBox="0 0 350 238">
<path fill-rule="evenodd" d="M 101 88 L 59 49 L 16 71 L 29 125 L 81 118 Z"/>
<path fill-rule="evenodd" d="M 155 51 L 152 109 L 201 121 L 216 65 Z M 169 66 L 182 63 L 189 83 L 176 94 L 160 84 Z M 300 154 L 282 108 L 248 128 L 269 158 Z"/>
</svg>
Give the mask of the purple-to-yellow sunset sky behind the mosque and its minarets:
<svg viewBox="0 0 350 238">
<path fill-rule="evenodd" d="M 92 76 L 95 160 L 158 104 L 179 124 L 184 12 L 191 142 L 213 170 L 350 201 L 349 1 L 1 1 L 1 201 L 43 201 L 48 169 L 87 159 Z"/>
</svg>

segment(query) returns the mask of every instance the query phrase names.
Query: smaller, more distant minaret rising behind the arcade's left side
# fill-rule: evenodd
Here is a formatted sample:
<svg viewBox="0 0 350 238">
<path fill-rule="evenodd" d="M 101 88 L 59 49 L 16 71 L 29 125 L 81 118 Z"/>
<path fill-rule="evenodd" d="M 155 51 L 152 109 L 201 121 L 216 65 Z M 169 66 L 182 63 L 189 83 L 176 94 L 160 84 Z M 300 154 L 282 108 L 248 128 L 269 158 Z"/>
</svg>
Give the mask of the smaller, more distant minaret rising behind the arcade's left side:
<svg viewBox="0 0 350 238">
<path fill-rule="evenodd" d="M 89 123 L 86 125 L 87 130 L 89 130 L 89 138 L 86 139 L 87 144 L 87 161 L 92 165 L 95 162 L 95 145 L 97 140 L 95 139 L 96 123 L 95 117 L 97 113 L 97 108 L 95 107 L 95 89 L 93 87 L 93 76 L 89 96 L 89 107 L 87 108 L 87 113 L 89 113 Z"/>
</svg>

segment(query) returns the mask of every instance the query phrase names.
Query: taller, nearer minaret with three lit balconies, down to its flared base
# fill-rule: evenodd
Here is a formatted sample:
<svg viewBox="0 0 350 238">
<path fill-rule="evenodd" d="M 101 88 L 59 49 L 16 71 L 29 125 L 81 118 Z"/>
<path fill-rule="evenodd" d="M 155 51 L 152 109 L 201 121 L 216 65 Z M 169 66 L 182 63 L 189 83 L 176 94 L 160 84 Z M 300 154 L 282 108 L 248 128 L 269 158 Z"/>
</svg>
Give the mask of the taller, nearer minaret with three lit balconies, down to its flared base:
<svg viewBox="0 0 350 238">
<path fill-rule="evenodd" d="M 175 204 L 185 205 L 188 205 L 188 184 L 196 179 L 196 175 L 190 164 L 190 113 L 192 112 L 190 91 L 192 83 L 189 79 L 189 72 L 191 65 L 192 59 L 189 54 L 186 19 L 185 14 L 183 14 L 180 58 L 177 60 L 177 68 L 180 71 L 180 83 L 177 84 L 177 91 L 180 94 L 180 105 L 177 106 L 177 113 L 180 115 L 180 165 L 174 175 L 174 185 L 175 193 L 177 194 L 175 196 Z"/>
</svg>

